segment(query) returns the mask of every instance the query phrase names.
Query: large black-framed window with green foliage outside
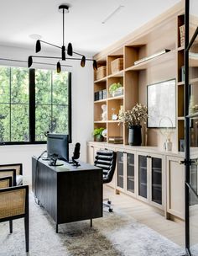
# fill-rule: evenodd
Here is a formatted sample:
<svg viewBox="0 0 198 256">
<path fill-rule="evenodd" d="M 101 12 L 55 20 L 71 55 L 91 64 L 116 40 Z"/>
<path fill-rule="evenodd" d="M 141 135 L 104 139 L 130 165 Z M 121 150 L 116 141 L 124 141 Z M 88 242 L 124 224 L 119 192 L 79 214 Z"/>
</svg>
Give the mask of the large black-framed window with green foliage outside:
<svg viewBox="0 0 198 256">
<path fill-rule="evenodd" d="M 0 143 L 42 143 L 47 131 L 71 141 L 70 72 L 0 67 Z"/>
</svg>

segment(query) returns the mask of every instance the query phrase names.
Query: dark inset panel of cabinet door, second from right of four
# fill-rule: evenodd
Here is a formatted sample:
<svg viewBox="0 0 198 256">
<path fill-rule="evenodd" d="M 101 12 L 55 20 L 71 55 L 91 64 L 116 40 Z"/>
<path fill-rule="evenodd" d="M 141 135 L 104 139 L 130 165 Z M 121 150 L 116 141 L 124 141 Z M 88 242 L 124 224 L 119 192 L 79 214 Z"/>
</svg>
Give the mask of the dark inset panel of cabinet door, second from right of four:
<svg viewBox="0 0 198 256">
<path fill-rule="evenodd" d="M 138 195 L 148 198 L 148 165 L 144 155 L 138 155 Z"/>
</svg>

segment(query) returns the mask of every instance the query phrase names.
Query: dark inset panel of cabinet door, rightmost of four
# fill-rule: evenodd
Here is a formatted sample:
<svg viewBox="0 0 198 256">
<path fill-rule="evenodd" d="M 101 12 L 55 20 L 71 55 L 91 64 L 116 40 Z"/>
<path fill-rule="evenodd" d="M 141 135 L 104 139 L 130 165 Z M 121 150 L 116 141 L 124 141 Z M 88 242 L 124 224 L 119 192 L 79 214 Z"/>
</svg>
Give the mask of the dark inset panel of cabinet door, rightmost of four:
<svg viewBox="0 0 198 256">
<path fill-rule="evenodd" d="M 151 157 L 151 201 L 162 205 L 162 158 Z"/>
</svg>

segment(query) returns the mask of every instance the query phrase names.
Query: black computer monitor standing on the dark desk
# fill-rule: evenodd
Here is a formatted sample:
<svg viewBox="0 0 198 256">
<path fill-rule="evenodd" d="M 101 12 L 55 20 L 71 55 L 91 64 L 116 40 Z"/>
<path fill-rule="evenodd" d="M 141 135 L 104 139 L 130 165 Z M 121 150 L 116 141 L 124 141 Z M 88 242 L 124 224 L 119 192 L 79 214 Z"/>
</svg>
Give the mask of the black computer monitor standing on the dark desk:
<svg viewBox="0 0 198 256">
<path fill-rule="evenodd" d="M 49 158 L 56 154 L 59 159 L 69 162 L 69 136 L 67 134 L 48 133 L 47 153 Z"/>
</svg>

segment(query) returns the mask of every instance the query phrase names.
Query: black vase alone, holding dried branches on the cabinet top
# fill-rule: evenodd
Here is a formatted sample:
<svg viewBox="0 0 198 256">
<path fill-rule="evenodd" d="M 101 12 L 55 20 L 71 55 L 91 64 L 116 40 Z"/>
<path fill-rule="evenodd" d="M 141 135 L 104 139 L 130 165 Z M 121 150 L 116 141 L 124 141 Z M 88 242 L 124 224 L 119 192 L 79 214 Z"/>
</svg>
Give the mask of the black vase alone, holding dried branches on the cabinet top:
<svg viewBox="0 0 198 256">
<path fill-rule="evenodd" d="M 128 127 L 128 144 L 130 146 L 141 146 L 142 133 L 141 125 L 133 125 Z"/>
</svg>

